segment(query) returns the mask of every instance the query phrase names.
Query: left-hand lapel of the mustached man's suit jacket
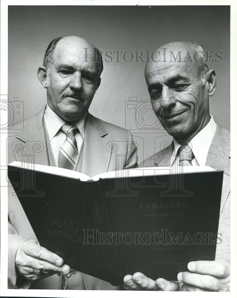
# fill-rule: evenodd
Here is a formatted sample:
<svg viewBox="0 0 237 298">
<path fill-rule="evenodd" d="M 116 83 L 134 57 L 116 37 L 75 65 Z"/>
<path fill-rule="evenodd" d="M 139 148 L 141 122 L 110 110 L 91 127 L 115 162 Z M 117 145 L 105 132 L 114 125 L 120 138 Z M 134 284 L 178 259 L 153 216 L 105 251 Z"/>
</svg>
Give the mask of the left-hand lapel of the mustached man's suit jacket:
<svg viewBox="0 0 237 298">
<path fill-rule="evenodd" d="M 23 146 L 23 151 L 18 153 L 19 160 L 24 158 L 35 164 L 49 165 L 43 125 L 44 110 L 45 107 L 33 116 L 22 133 L 16 137 Z"/>
</svg>

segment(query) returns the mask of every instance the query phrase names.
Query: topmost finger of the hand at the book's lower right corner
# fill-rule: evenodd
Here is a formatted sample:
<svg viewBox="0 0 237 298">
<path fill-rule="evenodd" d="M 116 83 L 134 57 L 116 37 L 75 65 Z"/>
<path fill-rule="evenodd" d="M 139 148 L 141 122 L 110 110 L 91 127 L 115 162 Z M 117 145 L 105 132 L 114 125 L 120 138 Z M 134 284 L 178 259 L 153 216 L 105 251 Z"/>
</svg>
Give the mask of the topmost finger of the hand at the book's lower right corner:
<svg viewBox="0 0 237 298">
<path fill-rule="evenodd" d="M 230 275 L 230 264 L 224 260 L 196 261 L 188 263 L 188 270 L 199 274 L 225 278 Z"/>
</svg>

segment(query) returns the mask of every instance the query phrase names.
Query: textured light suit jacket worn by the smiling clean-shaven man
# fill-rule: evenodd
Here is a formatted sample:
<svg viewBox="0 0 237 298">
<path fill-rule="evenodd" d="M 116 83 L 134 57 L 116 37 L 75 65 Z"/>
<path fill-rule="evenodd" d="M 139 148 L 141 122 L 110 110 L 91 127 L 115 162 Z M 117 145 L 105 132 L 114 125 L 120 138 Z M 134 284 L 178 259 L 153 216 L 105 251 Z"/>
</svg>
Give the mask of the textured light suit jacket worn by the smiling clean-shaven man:
<svg viewBox="0 0 237 298">
<path fill-rule="evenodd" d="M 172 152 L 173 142 L 145 159 L 140 165 L 169 166 Z M 216 123 L 216 132 L 207 154 L 206 165 L 224 171 L 218 228 L 222 242 L 217 245 L 216 259 L 223 259 L 230 263 L 230 132 L 218 123 Z"/>
</svg>

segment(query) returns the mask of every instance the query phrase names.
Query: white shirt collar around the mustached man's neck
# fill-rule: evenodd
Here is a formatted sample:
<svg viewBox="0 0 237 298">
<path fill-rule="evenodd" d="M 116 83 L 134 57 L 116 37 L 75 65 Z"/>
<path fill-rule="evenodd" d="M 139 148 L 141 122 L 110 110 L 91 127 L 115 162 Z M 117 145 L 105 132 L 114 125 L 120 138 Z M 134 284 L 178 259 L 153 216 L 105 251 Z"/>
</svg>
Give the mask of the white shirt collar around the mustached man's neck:
<svg viewBox="0 0 237 298">
<path fill-rule="evenodd" d="M 78 127 L 82 138 L 84 138 L 84 134 L 85 134 L 86 115 L 87 115 L 87 112 L 85 115 L 83 115 L 82 118 L 74 122 L 74 124 Z M 44 120 L 45 120 L 50 141 L 55 137 L 55 135 L 58 133 L 62 125 L 66 123 L 65 120 L 63 120 L 51 108 L 49 108 L 49 105 L 46 106 L 46 109 L 44 111 Z"/>
</svg>

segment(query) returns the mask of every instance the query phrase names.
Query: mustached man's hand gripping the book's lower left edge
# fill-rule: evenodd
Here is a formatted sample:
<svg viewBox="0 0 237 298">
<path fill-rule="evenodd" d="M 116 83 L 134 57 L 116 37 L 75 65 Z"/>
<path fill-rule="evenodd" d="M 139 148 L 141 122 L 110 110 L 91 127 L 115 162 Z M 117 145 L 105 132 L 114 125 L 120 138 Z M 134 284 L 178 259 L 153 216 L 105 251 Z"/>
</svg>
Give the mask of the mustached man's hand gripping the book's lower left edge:
<svg viewBox="0 0 237 298">
<path fill-rule="evenodd" d="M 39 246 L 34 239 L 21 243 L 16 252 L 15 263 L 18 273 L 30 281 L 39 280 L 57 272 L 68 274 L 71 271 L 68 265 L 63 265 L 61 257 Z"/>
</svg>

